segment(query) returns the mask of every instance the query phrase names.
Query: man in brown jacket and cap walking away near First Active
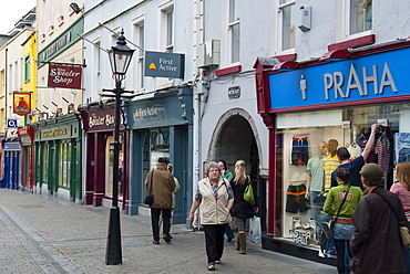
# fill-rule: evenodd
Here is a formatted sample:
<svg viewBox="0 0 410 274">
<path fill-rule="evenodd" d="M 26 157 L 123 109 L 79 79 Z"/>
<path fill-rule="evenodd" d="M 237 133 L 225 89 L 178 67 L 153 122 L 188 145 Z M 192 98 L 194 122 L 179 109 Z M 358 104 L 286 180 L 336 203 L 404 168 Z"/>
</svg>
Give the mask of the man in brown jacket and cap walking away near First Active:
<svg viewBox="0 0 410 274">
<path fill-rule="evenodd" d="M 172 209 L 172 193 L 175 189 L 174 177 L 167 171 L 170 159 L 167 157 L 160 157 L 156 168 L 151 170 L 145 179 L 145 187 L 150 194 L 154 197 L 151 208 L 151 223 L 154 236 L 153 244 L 160 243 L 160 215 L 163 220 L 163 239 L 165 242 L 171 242 L 171 209 Z"/>
</svg>

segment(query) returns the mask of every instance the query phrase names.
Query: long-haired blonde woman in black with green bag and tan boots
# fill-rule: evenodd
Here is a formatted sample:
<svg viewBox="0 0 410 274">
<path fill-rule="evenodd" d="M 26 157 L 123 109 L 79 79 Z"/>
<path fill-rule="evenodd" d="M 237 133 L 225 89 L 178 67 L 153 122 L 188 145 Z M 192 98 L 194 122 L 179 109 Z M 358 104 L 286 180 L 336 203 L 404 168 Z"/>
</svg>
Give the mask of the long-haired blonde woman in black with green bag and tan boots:
<svg viewBox="0 0 410 274">
<path fill-rule="evenodd" d="M 246 175 L 246 164 L 244 160 L 238 160 L 235 164 L 235 177 L 230 181 L 232 189 L 234 190 L 234 207 L 232 215 L 235 217 L 236 225 L 238 226 L 238 238 L 235 242 L 235 247 L 239 254 L 246 254 L 246 232 L 245 223 L 247 219 L 258 212 L 256 204 L 250 204 L 244 200 L 244 192 L 248 185 L 250 185 L 250 177 Z M 255 191 L 254 191 L 255 196 Z M 255 199 L 256 201 L 256 199 Z"/>
</svg>

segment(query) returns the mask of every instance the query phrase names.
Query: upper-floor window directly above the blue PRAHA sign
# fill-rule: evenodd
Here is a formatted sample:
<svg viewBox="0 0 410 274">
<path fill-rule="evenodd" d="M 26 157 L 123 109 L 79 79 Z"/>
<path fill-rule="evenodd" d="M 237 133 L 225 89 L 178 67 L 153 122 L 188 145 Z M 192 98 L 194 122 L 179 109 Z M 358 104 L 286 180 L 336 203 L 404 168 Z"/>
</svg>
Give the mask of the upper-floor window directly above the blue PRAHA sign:
<svg viewBox="0 0 410 274">
<path fill-rule="evenodd" d="M 350 0 L 350 35 L 371 30 L 372 0 Z"/>
</svg>

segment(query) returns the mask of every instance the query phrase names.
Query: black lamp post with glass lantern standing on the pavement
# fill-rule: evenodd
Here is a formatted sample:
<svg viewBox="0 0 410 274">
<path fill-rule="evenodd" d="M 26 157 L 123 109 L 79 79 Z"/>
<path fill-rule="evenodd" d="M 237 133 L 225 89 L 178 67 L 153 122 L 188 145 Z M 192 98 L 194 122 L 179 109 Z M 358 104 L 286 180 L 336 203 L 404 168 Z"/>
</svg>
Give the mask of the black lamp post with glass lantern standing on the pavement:
<svg viewBox="0 0 410 274">
<path fill-rule="evenodd" d="M 116 41 L 116 46 L 112 46 L 109 51 L 111 70 L 115 80 L 115 88 L 109 92 L 114 93 L 115 97 L 115 128 L 114 128 L 114 162 L 113 162 L 113 191 L 112 207 L 110 209 L 109 238 L 106 241 L 105 264 L 116 265 L 122 264 L 122 247 L 121 247 L 121 228 L 120 228 L 120 209 L 119 209 L 119 162 L 120 162 L 120 123 L 121 123 L 121 95 L 125 92 L 121 87 L 121 82 L 125 78 L 125 73 L 130 66 L 132 54 L 125 42 L 124 30 Z"/>
</svg>

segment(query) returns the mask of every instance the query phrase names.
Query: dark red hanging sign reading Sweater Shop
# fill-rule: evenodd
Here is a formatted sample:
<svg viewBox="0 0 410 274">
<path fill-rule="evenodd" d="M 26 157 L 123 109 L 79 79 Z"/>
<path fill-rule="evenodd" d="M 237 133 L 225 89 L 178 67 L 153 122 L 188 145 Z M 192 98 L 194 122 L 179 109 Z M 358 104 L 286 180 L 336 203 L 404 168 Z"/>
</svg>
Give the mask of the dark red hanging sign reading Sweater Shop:
<svg viewBox="0 0 410 274">
<path fill-rule="evenodd" d="M 80 66 L 49 65 L 49 87 L 81 88 Z"/>
</svg>

